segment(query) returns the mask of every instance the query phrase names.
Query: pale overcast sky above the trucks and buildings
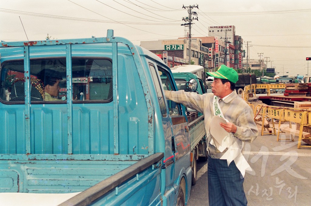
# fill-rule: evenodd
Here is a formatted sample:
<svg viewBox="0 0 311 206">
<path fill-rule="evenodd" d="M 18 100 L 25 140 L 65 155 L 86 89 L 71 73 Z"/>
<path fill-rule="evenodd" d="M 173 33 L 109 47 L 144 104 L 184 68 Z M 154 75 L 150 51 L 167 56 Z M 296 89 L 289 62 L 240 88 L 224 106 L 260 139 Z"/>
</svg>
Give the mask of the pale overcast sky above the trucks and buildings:
<svg viewBox="0 0 311 206">
<path fill-rule="evenodd" d="M 311 75 L 305 61 L 311 57 L 310 0 L 0 0 L 0 39 L 105 37 L 107 29 L 138 45 L 176 39 L 185 33 L 183 5 L 199 8 L 192 37 L 208 36 L 209 26 L 234 25 L 236 35 L 251 42 L 250 59 L 263 53 L 279 75 Z"/>
</svg>

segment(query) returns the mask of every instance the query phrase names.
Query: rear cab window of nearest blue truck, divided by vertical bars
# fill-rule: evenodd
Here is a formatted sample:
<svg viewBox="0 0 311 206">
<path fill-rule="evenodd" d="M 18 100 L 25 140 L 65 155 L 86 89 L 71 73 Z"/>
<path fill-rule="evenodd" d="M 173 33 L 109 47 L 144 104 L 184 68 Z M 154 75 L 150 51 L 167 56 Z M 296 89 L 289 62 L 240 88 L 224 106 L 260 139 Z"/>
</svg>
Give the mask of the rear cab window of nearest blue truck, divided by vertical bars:
<svg viewBox="0 0 311 206">
<path fill-rule="evenodd" d="M 30 101 L 64 103 L 67 99 L 66 58 L 30 60 Z M 112 101 L 110 59 L 72 58 L 73 103 Z M 1 66 L 0 99 L 25 102 L 24 61 L 8 61 Z"/>
</svg>

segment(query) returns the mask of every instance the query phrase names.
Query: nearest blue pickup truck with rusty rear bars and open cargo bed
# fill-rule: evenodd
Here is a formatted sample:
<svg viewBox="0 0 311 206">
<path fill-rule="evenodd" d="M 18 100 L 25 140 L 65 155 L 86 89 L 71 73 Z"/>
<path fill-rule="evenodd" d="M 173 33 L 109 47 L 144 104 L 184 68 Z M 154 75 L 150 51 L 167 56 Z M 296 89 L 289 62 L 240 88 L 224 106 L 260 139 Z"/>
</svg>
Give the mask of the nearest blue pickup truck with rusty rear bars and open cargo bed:
<svg viewBox="0 0 311 206">
<path fill-rule="evenodd" d="M 1 42 L 0 54 L 0 197 L 21 205 L 15 194 L 46 194 L 45 205 L 187 204 L 196 122 L 163 95 L 162 82 L 178 88 L 159 57 L 113 30 Z"/>
</svg>

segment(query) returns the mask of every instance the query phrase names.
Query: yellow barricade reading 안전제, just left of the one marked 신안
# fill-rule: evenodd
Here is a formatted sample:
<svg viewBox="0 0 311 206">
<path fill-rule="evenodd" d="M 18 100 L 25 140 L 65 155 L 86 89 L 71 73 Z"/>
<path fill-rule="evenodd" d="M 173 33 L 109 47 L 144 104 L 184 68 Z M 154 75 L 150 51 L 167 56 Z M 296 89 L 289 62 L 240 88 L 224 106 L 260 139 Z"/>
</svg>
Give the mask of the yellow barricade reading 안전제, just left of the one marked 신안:
<svg viewBox="0 0 311 206">
<path fill-rule="evenodd" d="M 272 121 L 272 129 L 274 132 L 274 135 L 276 135 L 276 129 L 278 130 L 278 133 L 280 131 L 280 125 L 278 128 L 274 125 L 274 120 L 279 120 L 282 114 L 283 107 L 274 107 L 274 106 L 266 106 L 263 109 L 263 115 L 262 115 L 262 127 L 261 127 L 261 135 L 271 135 L 270 131 L 268 133 L 264 133 L 264 118 L 271 118 Z"/>
</svg>

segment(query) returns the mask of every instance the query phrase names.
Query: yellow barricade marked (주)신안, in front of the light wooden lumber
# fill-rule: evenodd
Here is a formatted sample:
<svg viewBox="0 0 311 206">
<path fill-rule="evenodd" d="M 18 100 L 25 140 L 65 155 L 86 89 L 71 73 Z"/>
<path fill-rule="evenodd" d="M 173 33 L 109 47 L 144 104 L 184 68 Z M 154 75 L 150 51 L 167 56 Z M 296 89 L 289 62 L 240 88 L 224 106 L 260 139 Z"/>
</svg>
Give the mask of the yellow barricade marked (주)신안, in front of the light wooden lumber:
<svg viewBox="0 0 311 206">
<path fill-rule="evenodd" d="M 289 128 L 284 128 L 283 130 L 289 131 L 291 139 L 286 139 L 286 138 L 280 139 L 279 138 L 280 130 L 278 130 L 276 141 L 279 141 L 279 140 L 292 140 L 292 141 L 294 141 L 294 135 L 296 135 L 299 137 L 300 144 L 301 144 L 301 138 L 302 138 L 302 132 L 303 132 L 302 130 L 303 130 L 304 126 L 308 125 L 307 113 L 308 112 L 304 109 L 298 110 L 298 109 L 294 109 L 294 108 L 283 108 L 282 112 L 281 112 L 281 117 L 279 119 L 279 128 L 281 126 L 282 121 L 288 121 L 289 122 Z M 292 129 L 292 126 L 291 126 L 292 122 L 300 124 L 299 134 L 296 134 L 295 130 Z M 298 149 L 300 149 L 299 141 L 298 141 Z"/>
</svg>

